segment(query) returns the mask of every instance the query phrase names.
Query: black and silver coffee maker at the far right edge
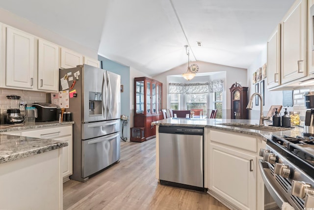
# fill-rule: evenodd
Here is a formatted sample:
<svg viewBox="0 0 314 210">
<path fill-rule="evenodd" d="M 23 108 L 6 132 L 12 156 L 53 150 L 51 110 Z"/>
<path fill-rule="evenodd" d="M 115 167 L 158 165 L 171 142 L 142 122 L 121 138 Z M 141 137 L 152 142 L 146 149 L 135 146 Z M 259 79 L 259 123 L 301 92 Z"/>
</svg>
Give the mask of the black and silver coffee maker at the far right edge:
<svg viewBox="0 0 314 210">
<path fill-rule="evenodd" d="M 305 113 L 304 136 L 314 136 L 314 92 L 304 93 Z"/>
</svg>

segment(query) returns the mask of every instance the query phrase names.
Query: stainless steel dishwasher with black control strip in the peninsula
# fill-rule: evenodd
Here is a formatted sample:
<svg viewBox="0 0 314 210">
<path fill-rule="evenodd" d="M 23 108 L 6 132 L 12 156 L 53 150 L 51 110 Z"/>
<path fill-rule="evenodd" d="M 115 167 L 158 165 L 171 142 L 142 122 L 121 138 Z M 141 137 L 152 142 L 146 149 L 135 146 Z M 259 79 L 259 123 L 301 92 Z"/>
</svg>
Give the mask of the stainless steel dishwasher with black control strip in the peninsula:
<svg viewBox="0 0 314 210">
<path fill-rule="evenodd" d="M 159 126 L 160 184 L 204 191 L 204 128 Z"/>
</svg>

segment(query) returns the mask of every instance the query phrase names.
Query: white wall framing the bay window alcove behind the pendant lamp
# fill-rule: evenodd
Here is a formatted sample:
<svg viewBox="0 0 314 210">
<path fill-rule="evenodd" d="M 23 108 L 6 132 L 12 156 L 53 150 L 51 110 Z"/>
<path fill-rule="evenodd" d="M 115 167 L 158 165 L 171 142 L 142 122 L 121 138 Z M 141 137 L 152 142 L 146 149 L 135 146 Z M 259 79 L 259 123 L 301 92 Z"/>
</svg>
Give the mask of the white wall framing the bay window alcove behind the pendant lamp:
<svg viewBox="0 0 314 210">
<path fill-rule="evenodd" d="M 231 66 L 219 65 L 215 63 L 208 63 L 203 61 L 196 61 L 193 62 L 199 66 L 198 73 L 205 73 L 205 72 L 226 72 L 226 79 L 225 79 L 225 87 L 226 87 L 226 118 L 230 118 L 230 91 L 229 88 L 235 83 L 239 83 L 242 87 L 247 87 L 247 70 L 244 68 L 236 68 Z M 180 66 L 177 66 L 169 71 L 163 72 L 154 76 L 155 80 L 158 80 L 162 83 L 162 108 L 169 109 L 170 105 L 167 105 L 167 94 L 168 89 L 167 84 L 169 83 L 167 76 L 171 75 L 181 75 L 186 72 L 186 63 Z M 191 82 L 196 80 L 192 79 Z M 209 82 L 209 81 L 208 81 Z M 167 92 L 165 92 L 167 90 Z"/>
</svg>

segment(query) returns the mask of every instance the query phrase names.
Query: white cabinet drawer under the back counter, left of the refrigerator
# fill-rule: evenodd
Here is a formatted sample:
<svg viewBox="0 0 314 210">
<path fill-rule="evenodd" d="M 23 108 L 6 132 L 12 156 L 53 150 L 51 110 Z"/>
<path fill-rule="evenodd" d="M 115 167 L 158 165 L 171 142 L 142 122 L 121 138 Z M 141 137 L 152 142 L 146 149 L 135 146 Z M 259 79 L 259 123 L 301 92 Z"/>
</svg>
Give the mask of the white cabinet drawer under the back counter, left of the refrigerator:
<svg viewBox="0 0 314 210">
<path fill-rule="evenodd" d="M 72 134 L 72 126 L 24 131 L 21 133 L 22 136 L 44 138 L 44 139 L 55 139 L 61 136 L 67 136 L 71 134 Z"/>
</svg>

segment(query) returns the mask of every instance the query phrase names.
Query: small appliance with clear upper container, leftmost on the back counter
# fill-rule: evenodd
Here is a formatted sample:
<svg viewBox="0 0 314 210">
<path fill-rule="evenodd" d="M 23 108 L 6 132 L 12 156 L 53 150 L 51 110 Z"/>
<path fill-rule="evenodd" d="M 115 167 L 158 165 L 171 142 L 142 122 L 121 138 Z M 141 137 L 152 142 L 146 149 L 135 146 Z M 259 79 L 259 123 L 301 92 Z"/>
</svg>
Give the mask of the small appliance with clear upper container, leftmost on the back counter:
<svg viewBox="0 0 314 210">
<path fill-rule="evenodd" d="M 6 110 L 6 123 L 22 123 L 24 122 L 24 118 L 21 115 L 20 111 L 20 98 L 21 96 L 17 95 L 7 95 L 7 107 Z"/>
</svg>

